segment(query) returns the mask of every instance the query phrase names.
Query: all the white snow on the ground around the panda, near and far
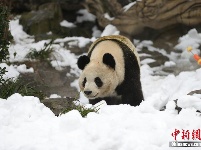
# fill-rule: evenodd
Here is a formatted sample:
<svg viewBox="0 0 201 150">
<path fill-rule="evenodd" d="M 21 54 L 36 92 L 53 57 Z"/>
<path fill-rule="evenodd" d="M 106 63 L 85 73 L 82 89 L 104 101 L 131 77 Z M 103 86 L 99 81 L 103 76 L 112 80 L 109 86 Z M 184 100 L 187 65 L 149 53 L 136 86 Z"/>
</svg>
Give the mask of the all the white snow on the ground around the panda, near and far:
<svg viewBox="0 0 201 150">
<path fill-rule="evenodd" d="M 15 41 L 9 49 L 11 62 L 25 60 L 31 48 L 40 50 L 48 41 L 35 42 L 33 37 L 23 32 L 18 19 L 12 20 L 10 27 Z M 114 26 L 109 25 L 102 35 L 118 33 Z M 53 44 L 55 59 L 51 64 L 56 69 L 70 65 L 70 73 L 79 75 L 76 66 L 78 56 L 63 47 L 65 41 L 72 39 L 77 39 L 80 47 L 94 41 L 94 38 L 83 37 L 57 39 L 56 43 L 59 44 Z M 196 30 L 189 31 L 179 39 L 176 48 L 182 52 L 182 62 L 190 63 L 192 55 L 186 54 L 185 47 L 192 46 L 197 52 L 200 39 L 201 34 Z M 190 45 L 185 45 L 187 41 Z M 151 47 L 147 41 L 137 44 L 139 51 L 141 44 L 148 44 L 149 50 L 160 51 Z M 168 55 L 163 50 L 160 52 L 171 60 L 165 66 L 180 62 L 176 54 Z M 201 89 L 201 68 L 181 72 L 177 76 L 157 76 L 153 75 L 156 68 L 150 68 L 148 62 L 144 61 L 141 67 L 145 101 L 137 107 L 108 106 L 103 101 L 98 114 L 89 113 L 86 118 L 82 118 L 78 111 L 73 110 L 56 117 L 36 97 L 14 94 L 7 100 L 0 99 L 0 150 L 167 150 L 173 149 L 169 147 L 169 142 L 175 141 L 175 138 L 178 141 L 201 142 L 201 118 L 196 112 L 201 111 L 201 95 L 187 95 Z M 34 72 L 25 65 L 0 65 L 6 66 L 8 70 L 5 78 L 17 77 L 24 71 Z M 78 86 L 76 83 L 72 85 Z M 183 108 L 179 114 L 174 109 L 173 100 L 176 99 Z M 86 102 L 86 99 L 81 97 L 80 101 Z M 167 109 L 159 111 L 164 105 Z M 175 136 L 175 131 L 180 133 Z"/>
</svg>

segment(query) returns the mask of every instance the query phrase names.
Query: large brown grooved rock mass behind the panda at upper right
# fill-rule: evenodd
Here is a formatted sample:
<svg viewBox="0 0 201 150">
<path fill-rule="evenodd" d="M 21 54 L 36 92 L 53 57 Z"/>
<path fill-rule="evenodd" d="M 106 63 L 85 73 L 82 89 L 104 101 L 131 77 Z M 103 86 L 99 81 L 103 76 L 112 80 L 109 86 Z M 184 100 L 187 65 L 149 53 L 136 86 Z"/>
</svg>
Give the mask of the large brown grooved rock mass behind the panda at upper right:
<svg viewBox="0 0 201 150">
<path fill-rule="evenodd" d="M 128 0 L 86 0 L 84 4 L 102 28 L 114 25 L 130 39 L 152 40 L 155 47 L 168 51 L 189 29 L 199 30 L 201 25 L 200 1 L 135 0 L 130 5 Z"/>
</svg>

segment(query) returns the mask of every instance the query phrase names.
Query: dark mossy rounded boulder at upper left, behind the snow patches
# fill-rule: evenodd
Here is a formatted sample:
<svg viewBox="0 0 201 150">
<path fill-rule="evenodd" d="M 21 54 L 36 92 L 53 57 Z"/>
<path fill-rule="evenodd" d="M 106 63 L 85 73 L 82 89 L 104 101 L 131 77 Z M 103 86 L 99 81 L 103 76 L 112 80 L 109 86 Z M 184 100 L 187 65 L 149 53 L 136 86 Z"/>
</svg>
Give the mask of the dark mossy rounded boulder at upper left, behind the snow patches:
<svg viewBox="0 0 201 150">
<path fill-rule="evenodd" d="M 56 32 L 60 28 L 63 16 L 58 3 L 46 3 L 37 11 L 24 13 L 20 18 L 20 24 L 30 35 L 46 34 L 49 31 Z"/>
</svg>

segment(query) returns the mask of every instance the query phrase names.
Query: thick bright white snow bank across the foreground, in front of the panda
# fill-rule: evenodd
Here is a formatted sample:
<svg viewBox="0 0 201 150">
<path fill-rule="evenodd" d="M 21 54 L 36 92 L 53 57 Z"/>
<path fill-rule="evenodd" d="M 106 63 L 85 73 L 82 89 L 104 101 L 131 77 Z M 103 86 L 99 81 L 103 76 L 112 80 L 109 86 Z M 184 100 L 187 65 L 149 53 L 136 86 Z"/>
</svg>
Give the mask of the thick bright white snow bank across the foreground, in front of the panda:
<svg viewBox="0 0 201 150">
<path fill-rule="evenodd" d="M 199 128 L 195 111 L 161 112 L 144 101 L 138 107 L 103 105 L 86 118 L 76 110 L 56 117 L 38 98 L 14 94 L 0 100 L 0 149 L 167 150 L 175 128 Z"/>
</svg>

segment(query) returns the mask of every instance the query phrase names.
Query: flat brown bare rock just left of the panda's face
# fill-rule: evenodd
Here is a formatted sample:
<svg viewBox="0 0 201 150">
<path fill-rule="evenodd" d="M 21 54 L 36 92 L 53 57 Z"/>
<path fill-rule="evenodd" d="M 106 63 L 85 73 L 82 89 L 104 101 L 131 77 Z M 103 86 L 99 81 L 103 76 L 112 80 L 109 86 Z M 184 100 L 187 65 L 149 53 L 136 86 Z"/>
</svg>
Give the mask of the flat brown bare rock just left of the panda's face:
<svg viewBox="0 0 201 150">
<path fill-rule="evenodd" d="M 78 91 L 70 86 L 71 82 L 73 82 L 77 77 L 74 75 L 66 75 L 70 72 L 70 67 L 65 67 L 62 71 L 58 71 L 45 61 L 23 63 L 25 63 L 28 68 L 33 67 L 34 73 L 21 74 L 21 77 L 27 84 L 37 87 L 48 97 L 51 94 L 58 94 L 61 97 L 77 96 Z"/>
</svg>

